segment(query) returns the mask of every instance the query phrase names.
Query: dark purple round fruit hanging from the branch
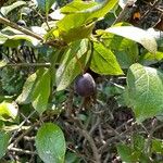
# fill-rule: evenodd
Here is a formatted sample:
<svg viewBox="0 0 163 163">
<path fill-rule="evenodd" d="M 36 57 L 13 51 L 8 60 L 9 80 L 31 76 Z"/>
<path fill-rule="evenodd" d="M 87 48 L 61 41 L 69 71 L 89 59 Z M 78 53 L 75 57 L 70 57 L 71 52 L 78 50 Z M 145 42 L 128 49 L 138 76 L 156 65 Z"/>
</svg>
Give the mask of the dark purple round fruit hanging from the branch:
<svg viewBox="0 0 163 163">
<path fill-rule="evenodd" d="M 82 97 L 90 97 L 96 93 L 96 83 L 89 73 L 79 75 L 75 80 L 75 91 Z"/>
</svg>

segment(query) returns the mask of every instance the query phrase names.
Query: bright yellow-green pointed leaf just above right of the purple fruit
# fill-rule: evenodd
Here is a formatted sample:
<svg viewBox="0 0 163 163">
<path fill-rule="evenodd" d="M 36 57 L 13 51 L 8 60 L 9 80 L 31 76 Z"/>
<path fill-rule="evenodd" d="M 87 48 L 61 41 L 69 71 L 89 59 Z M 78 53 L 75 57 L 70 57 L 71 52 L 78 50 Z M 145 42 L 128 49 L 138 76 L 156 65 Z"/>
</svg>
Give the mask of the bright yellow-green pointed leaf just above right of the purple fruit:
<svg viewBox="0 0 163 163">
<path fill-rule="evenodd" d="M 115 55 L 100 42 L 93 42 L 90 68 L 101 75 L 123 74 Z"/>
</svg>

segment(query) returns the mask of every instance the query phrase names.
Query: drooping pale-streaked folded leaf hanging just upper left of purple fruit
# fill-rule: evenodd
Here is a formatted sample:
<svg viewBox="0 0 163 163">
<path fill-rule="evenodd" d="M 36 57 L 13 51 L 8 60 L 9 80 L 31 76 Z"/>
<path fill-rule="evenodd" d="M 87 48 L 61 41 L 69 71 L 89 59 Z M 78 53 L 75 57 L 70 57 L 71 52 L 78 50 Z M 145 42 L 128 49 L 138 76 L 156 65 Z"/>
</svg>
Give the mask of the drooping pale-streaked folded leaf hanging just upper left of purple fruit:
<svg viewBox="0 0 163 163">
<path fill-rule="evenodd" d="M 77 61 L 76 57 L 79 59 Z M 63 90 L 82 73 L 80 64 L 85 67 L 90 57 L 88 40 L 83 39 L 72 43 L 64 55 L 64 60 L 57 71 L 57 90 Z"/>
</svg>

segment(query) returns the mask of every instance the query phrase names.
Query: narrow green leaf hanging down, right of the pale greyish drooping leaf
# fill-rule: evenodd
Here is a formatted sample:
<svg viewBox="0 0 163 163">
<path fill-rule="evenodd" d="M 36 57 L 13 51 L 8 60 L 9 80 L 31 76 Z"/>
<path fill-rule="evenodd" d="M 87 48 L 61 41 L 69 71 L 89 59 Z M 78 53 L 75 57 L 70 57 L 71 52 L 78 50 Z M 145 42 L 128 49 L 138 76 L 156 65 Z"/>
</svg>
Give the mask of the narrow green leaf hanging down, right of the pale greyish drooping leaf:
<svg viewBox="0 0 163 163">
<path fill-rule="evenodd" d="M 33 106 L 34 109 L 41 114 L 43 111 L 47 110 L 48 105 L 48 99 L 50 96 L 50 72 L 48 68 L 40 68 L 37 72 L 37 75 L 39 76 L 37 84 L 34 88 L 33 93 Z"/>
</svg>

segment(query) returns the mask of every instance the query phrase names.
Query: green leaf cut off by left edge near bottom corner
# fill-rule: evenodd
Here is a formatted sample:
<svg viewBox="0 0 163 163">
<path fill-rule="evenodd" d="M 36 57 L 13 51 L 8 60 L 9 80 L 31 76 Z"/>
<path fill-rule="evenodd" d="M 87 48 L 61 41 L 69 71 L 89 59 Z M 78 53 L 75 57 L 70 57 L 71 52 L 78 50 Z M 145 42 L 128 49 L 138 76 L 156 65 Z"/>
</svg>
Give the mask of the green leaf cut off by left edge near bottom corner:
<svg viewBox="0 0 163 163">
<path fill-rule="evenodd" d="M 5 154 L 8 150 L 10 136 L 4 131 L 0 131 L 0 159 Z"/>
</svg>

